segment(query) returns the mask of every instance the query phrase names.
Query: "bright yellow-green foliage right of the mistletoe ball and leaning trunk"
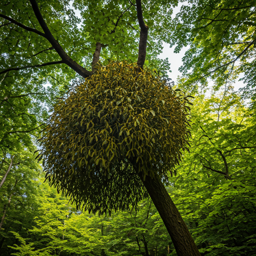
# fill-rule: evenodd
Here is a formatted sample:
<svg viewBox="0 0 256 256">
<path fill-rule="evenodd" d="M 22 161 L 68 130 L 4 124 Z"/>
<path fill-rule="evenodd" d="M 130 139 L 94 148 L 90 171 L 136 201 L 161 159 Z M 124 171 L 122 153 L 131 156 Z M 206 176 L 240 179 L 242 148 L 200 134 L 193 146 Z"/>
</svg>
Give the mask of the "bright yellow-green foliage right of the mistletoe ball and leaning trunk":
<svg viewBox="0 0 256 256">
<path fill-rule="evenodd" d="M 171 190 L 201 255 L 254 255 L 255 114 L 229 91 L 193 101 L 190 154 Z"/>
</svg>

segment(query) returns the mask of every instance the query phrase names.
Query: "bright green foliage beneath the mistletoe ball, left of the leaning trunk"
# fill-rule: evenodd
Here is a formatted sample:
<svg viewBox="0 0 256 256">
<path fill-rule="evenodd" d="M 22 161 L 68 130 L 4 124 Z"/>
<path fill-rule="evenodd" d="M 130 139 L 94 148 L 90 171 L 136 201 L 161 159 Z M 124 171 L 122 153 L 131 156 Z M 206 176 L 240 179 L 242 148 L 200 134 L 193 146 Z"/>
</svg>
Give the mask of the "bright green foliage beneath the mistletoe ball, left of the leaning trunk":
<svg viewBox="0 0 256 256">
<path fill-rule="evenodd" d="M 56 189 L 40 184 L 40 206 L 30 229 L 10 245 L 11 255 L 141 255 L 145 250 L 167 252 L 170 238 L 150 199 L 131 209 L 104 217 L 74 211 Z M 161 233 L 163 232 L 163 234 Z M 26 237 L 26 238 L 24 238 Z M 43 254 L 44 253 L 44 254 Z"/>
</svg>

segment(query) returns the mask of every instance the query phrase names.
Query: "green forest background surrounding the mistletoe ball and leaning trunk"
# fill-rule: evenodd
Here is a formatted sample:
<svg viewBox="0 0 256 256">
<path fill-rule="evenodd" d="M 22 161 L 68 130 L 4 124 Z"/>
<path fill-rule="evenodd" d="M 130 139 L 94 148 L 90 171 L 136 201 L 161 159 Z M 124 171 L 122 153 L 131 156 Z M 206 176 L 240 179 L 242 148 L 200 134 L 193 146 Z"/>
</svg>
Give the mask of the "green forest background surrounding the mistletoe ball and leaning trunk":
<svg viewBox="0 0 256 256">
<path fill-rule="evenodd" d="M 132 2 L 37 3 L 63 49 L 85 68 L 90 67 L 98 41 L 102 65 L 110 60 L 136 61 L 139 25 Z M 166 79 L 175 63 L 157 58 L 162 42 L 176 51 L 189 45 L 182 76 L 172 88 L 194 96 L 190 152 L 183 152 L 166 189 L 201 255 L 252 256 L 255 2 L 189 0 L 171 19 L 177 4 L 142 1 L 149 26 L 146 68 Z M 139 202 L 138 211 L 130 207 L 98 216 L 76 209 L 44 182 L 34 154 L 41 127 L 52 106 L 82 77 L 58 59 L 47 38 L 39 37 L 37 23 L 28 1 L 1 1 L 0 255 L 177 255 L 150 197 Z M 244 81 L 238 91 L 233 89 L 237 77 Z"/>
</svg>

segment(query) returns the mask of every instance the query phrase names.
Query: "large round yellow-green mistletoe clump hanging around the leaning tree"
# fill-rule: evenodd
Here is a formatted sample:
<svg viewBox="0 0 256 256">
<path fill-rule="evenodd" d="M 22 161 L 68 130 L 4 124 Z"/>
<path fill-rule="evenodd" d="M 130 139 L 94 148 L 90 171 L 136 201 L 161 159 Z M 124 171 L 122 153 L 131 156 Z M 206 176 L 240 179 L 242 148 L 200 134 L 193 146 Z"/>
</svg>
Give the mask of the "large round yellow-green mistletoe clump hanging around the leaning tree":
<svg viewBox="0 0 256 256">
<path fill-rule="evenodd" d="M 140 178 L 167 181 L 188 144 L 187 97 L 137 69 L 99 67 L 54 106 L 40 139 L 46 178 L 92 212 L 136 207 Z"/>
</svg>

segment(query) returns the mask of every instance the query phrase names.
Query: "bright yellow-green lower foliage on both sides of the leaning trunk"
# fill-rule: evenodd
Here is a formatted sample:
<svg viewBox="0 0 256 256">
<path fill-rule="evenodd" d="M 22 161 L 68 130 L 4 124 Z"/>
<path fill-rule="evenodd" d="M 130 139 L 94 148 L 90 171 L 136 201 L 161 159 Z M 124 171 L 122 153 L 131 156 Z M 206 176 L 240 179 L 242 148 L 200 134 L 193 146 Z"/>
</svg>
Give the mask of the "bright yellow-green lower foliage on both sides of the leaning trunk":
<svg viewBox="0 0 256 256">
<path fill-rule="evenodd" d="M 254 255 L 254 107 L 244 106 L 231 91 L 209 98 L 198 95 L 193 100 L 190 153 L 184 153 L 177 176 L 169 178 L 166 189 L 202 256 Z M 216 149 L 225 156 L 231 179 L 225 178 L 224 160 Z M 139 201 L 138 211 L 130 207 L 111 216 L 97 216 L 76 211 L 42 180 L 24 183 L 29 196 L 24 197 L 22 207 L 13 197 L 1 230 L 4 256 L 23 251 L 29 255 L 128 256 L 145 255 L 146 249 L 149 256 L 176 255 L 150 199 Z"/>
</svg>

